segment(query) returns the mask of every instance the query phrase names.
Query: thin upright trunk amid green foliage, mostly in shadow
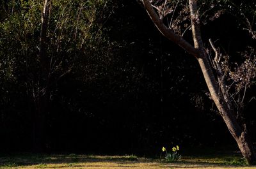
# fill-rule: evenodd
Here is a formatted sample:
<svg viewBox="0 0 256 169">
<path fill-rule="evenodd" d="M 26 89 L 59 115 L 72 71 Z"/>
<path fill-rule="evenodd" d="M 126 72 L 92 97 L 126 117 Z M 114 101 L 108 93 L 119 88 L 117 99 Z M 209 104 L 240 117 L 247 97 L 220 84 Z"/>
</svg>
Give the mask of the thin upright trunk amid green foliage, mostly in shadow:
<svg viewBox="0 0 256 169">
<path fill-rule="evenodd" d="M 46 34 L 50 13 L 50 5 L 51 0 L 44 1 L 44 10 L 42 12 L 40 31 L 40 72 L 35 99 L 35 121 L 33 130 L 33 149 L 37 152 L 42 152 L 45 149 L 45 116 L 47 115 L 49 107 L 50 62 L 46 50 Z"/>
</svg>

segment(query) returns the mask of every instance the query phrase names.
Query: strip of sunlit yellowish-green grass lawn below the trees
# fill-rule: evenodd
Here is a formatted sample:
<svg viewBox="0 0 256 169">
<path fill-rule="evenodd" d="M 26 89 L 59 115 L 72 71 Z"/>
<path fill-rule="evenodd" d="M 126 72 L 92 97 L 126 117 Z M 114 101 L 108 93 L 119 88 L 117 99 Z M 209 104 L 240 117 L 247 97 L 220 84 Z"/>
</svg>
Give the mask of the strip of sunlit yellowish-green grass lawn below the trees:
<svg viewBox="0 0 256 169">
<path fill-rule="evenodd" d="M 218 157 L 218 158 L 216 158 Z M 246 166 L 238 154 L 221 156 L 183 156 L 177 163 L 164 163 L 163 159 L 138 158 L 136 156 L 88 156 L 88 155 L 45 155 L 22 154 L 0 156 L 0 168 L 255 168 Z"/>
</svg>

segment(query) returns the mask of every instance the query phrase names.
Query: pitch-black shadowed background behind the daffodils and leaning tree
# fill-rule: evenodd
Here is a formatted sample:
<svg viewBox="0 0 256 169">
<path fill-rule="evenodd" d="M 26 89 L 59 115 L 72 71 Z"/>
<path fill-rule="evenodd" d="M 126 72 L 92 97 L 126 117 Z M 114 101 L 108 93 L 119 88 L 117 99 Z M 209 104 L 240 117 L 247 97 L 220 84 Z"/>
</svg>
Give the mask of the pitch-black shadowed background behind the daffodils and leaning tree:
<svg viewBox="0 0 256 169">
<path fill-rule="evenodd" d="M 224 15 L 202 26 L 202 36 L 219 39 L 236 57 L 233 49 L 243 50 L 244 41 L 255 44 L 236 24 L 236 18 Z M 56 82 L 45 121 L 45 152 L 145 155 L 172 145 L 236 147 L 205 94 L 196 59 L 164 38 L 136 1 L 120 1 L 105 26 L 110 41 L 123 44 L 113 54 L 122 61 L 113 64 L 111 77 L 84 82 L 83 72 L 74 71 Z M 121 68 L 127 71 L 115 72 Z M 14 84 L 8 87 L 0 105 L 0 152 L 31 152 L 28 96 Z M 252 87 L 246 98 L 254 94 Z M 255 142 L 253 110 L 255 100 L 244 111 Z"/>
</svg>

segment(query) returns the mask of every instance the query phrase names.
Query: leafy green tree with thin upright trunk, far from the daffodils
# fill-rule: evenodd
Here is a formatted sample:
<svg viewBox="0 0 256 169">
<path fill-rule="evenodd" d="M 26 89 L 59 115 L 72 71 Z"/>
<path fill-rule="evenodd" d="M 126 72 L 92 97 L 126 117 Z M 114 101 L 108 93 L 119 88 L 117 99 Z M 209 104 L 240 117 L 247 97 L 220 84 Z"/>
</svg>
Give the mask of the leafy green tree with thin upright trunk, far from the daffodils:
<svg viewBox="0 0 256 169">
<path fill-rule="evenodd" d="M 20 102 L 24 110 L 19 111 L 33 123 L 30 128 L 33 128 L 31 138 L 35 151 L 44 151 L 47 147 L 47 123 L 53 93 L 58 91 L 57 82 L 71 71 L 74 73 L 89 64 L 94 66 L 96 56 L 102 62 L 108 60 L 107 54 L 101 55 L 111 48 L 102 27 L 112 10 L 108 3 L 112 1 L 0 3 L 0 92 L 13 107 L 16 100 L 8 101 L 8 89 L 26 96 Z M 84 61 L 86 59 L 90 63 Z M 5 102 L 1 103 L 3 107 Z"/>
</svg>

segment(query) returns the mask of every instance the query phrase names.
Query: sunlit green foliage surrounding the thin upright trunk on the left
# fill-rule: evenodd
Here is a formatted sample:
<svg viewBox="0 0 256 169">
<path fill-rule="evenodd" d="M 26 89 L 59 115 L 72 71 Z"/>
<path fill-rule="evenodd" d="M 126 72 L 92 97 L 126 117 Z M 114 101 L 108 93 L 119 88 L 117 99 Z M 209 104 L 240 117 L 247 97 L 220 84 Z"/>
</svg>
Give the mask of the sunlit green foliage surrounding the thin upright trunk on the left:
<svg viewBox="0 0 256 169">
<path fill-rule="evenodd" d="M 42 87 L 44 79 L 40 77 L 43 65 L 39 56 L 43 3 L 30 0 L 3 3 L 8 9 L 3 10 L 1 6 L 4 13 L 0 22 L 1 125 L 19 121 L 20 130 L 31 133 L 24 128 L 33 126 L 38 91 L 43 94 L 45 91 Z M 109 52 L 117 44 L 109 43 L 106 36 L 108 29 L 103 26 L 113 8 L 115 4 L 108 0 L 51 1 L 46 40 L 46 55 L 50 61 L 47 63 L 50 68 L 49 106 L 60 90 L 56 88 L 58 82 L 68 74 L 79 77 L 78 74 L 84 72 L 83 76 L 90 76 L 90 79 L 79 78 L 95 82 L 101 78 L 97 75 L 104 73 L 103 68 L 111 64 L 113 59 L 109 58 Z M 53 111 L 50 107 L 50 112 Z M 49 112 L 44 114 L 49 117 Z"/>
</svg>

